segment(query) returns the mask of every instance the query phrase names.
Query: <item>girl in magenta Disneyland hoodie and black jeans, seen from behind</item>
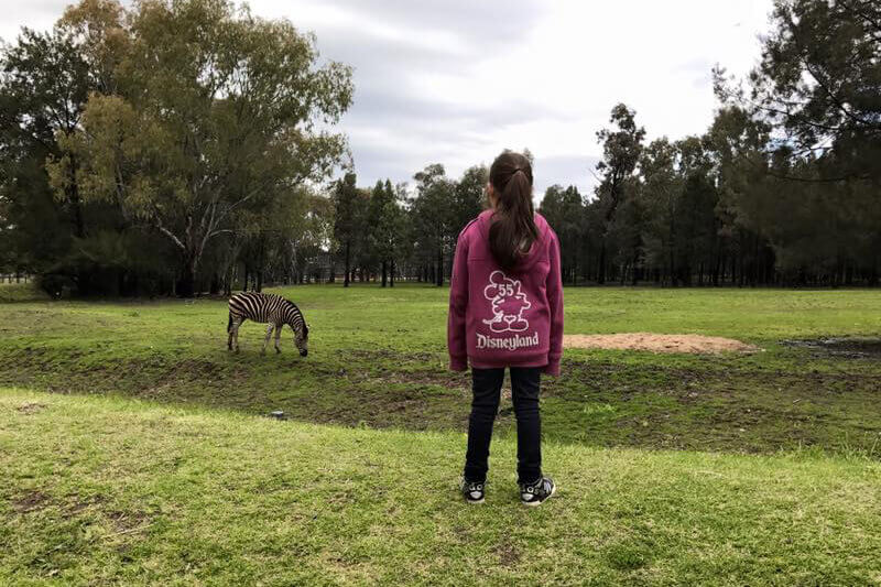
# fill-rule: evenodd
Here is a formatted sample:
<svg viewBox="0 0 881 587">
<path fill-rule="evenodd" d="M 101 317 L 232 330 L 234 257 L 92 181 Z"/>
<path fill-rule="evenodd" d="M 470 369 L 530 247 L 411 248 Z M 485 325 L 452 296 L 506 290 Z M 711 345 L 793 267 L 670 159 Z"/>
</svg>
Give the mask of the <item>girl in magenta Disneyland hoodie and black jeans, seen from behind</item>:
<svg viewBox="0 0 881 587">
<path fill-rule="evenodd" d="M 461 493 L 483 502 L 492 423 L 505 367 L 516 415 L 520 499 L 539 506 L 556 487 L 542 474 L 541 373 L 559 374 L 563 286 L 559 243 L 532 204 L 532 165 L 505 151 L 489 170 L 490 209 L 459 235 L 449 290 L 450 368 L 471 365 L 474 398 Z"/>
</svg>

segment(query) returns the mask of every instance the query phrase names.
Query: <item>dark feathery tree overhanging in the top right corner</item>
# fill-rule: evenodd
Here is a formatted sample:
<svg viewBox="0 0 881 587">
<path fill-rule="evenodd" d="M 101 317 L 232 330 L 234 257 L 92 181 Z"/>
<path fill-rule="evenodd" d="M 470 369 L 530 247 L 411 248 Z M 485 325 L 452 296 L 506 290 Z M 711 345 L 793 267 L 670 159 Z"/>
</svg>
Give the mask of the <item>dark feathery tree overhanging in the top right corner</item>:
<svg viewBox="0 0 881 587">
<path fill-rule="evenodd" d="M 749 88 L 716 70 L 717 94 L 779 130 L 777 145 L 819 157 L 814 181 L 881 183 L 881 4 L 775 0 Z M 812 177 L 800 177 L 812 180 Z"/>
</svg>

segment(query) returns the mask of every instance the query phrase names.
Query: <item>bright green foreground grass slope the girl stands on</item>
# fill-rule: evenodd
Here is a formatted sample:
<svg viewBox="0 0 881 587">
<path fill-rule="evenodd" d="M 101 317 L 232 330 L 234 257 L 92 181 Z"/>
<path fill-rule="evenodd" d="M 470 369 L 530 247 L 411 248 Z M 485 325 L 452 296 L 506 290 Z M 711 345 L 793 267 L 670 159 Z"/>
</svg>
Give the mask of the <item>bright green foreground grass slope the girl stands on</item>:
<svg viewBox="0 0 881 587">
<path fill-rule="evenodd" d="M 531 510 L 510 441 L 460 503 L 463 446 L 7 389 L 0 583 L 881 583 L 878 461 L 552 443 L 561 492 Z"/>
</svg>

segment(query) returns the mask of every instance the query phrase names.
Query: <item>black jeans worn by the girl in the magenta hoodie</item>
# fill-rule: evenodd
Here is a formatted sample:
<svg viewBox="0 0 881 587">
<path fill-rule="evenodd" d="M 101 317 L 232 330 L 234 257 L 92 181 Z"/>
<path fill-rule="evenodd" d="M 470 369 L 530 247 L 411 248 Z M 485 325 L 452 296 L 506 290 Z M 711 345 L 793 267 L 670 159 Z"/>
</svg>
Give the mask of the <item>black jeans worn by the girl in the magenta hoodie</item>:
<svg viewBox="0 0 881 587">
<path fill-rule="evenodd" d="M 516 415 L 516 474 L 519 482 L 542 476 L 542 427 L 539 415 L 540 367 L 511 367 L 511 399 Z M 499 411 L 504 368 L 471 369 L 471 417 L 468 421 L 468 453 L 465 478 L 485 482 L 489 469 L 492 423 Z"/>
</svg>

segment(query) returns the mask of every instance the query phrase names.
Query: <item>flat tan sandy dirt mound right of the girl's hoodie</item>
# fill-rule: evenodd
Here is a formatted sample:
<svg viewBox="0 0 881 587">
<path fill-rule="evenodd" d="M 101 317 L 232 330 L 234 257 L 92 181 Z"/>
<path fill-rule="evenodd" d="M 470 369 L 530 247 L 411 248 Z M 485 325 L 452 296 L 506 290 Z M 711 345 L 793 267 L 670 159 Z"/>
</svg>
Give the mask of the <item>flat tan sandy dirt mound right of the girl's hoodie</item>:
<svg viewBox="0 0 881 587">
<path fill-rule="evenodd" d="M 620 333 L 613 335 L 566 335 L 565 348 L 602 348 L 618 350 L 650 350 L 652 352 L 755 352 L 758 347 L 719 336 L 659 335 L 653 333 Z"/>
</svg>

